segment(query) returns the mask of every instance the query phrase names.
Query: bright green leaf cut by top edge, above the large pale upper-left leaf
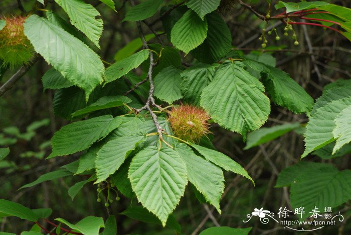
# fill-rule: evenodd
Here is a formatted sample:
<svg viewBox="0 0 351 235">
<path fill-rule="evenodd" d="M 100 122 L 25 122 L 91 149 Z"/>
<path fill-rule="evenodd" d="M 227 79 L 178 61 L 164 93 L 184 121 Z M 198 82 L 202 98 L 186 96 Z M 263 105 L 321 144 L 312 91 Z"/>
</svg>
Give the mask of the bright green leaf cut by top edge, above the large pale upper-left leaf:
<svg viewBox="0 0 351 235">
<path fill-rule="evenodd" d="M 82 31 L 98 48 L 103 30 L 103 22 L 95 17 L 100 13 L 90 4 L 82 0 L 55 0 L 67 13 L 71 24 Z"/>
</svg>

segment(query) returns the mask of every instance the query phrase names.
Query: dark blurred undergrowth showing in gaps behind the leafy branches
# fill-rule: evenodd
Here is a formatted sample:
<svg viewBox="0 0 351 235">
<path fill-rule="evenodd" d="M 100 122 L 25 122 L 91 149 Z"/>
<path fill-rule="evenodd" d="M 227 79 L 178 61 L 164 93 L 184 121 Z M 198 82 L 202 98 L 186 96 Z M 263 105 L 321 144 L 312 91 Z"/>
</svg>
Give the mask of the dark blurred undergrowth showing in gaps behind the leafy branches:
<svg viewBox="0 0 351 235">
<path fill-rule="evenodd" d="M 28 11 L 32 9 L 35 2 L 35 0 L 22 0 Z M 95 6 L 98 4 L 98 1 L 86 2 Z M 104 33 L 100 41 L 101 50 L 98 53 L 103 60 L 110 63 L 114 62 L 118 50 L 138 38 L 135 23 L 122 22 L 125 9 L 130 7 L 129 2 L 114 2 L 118 14 L 105 6 L 97 6 L 104 22 Z M 172 4 L 171 1 L 165 2 Z M 254 5 L 255 9 L 263 15 L 267 13 L 265 1 L 245 2 Z M 347 0 L 330 1 L 330 3 L 351 8 L 351 2 Z M 122 7 L 124 5 L 125 8 Z M 53 9 L 55 5 L 49 5 L 49 8 Z M 56 7 L 53 10 L 68 20 L 61 9 Z M 251 52 L 253 56 L 260 55 L 262 48 L 258 37 L 264 23 L 237 4 L 235 0 L 223 0 L 219 11 L 231 30 L 233 51 L 239 50 L 245 54 Z M 275 12 L 275 10 L 272 11 Z M 16 14 L 20 14 L 17 1 L 2 0 L 0 2 L 0 15 Z M 321 95 L 324 85 L 340 78 L 349 79 L 351 77 L 351 44 L 342 35 L 320 27 L 294 27 L 299 41 L 299 46 L 294 46 L 290 37 L 283 37 L 284 26 L 277 23 L 276 28 L 281 40 L 275 41 L 275 36 L 272 35 L 264 51 L 275 58 L 269 57 L 272 60 L 271 63 L 288 72 L 314 99 Z M 162 30 L 160 22 L 155 25 L 155 29 Z M 145 32 L 151 33 L 147 30 L 145 28 Z M 165 36 L 161 37 L 167 41 Z M 149 42 L 156 42 L 156 40 L 150 39 Z M 190 56 L 185 57 L 184 62 L 191 62 Z M 96 185 L 86 184 L 73 201 L 67 194 L 70 186 L 86 179 L 83 177 L 81 179 L 78 176 L 66 177 L 18 191 L 24 184 L 33 182 L 40 175 L 70 163 L 78 157 L 78 155 L 73 155 L 45 160 L 51 152 L 49 144 L 51 137 L 60 127 L 69 123 L 54 115 L 52 105 L 54 92 L 43 90 L 41 78 L 47 69 L 48 65 L 45 61 L 40 60 L 12 90 L 0 98 L 0 146 L 9 146 L 11 149 L 10 155 L 0 161 L 0 198 L 19 202 L 30 208 L 50 207 L 53 209 L 51 218 L 63 217 L 68 221 L 79 221 L 87 215 L 106 218 L 105 207 L 102 203 L 96 202 Z M 0 83 L 3 84 L 15 71 L 0 71 Z M 137 72 L 141 73 L 141 71 Z M 270 118 L 264 127 L 292 122 L 306 123 L 307 118 L 303 114 L 294 114 L 272 104 Z M 214 226 L 214 221 L 209 218 L 208 209 L 212 211 L 221 226 L 253 226 L 253 234 L 293 233 L 281 230 L 282 226 L 263 225 L 259 220 L 252 224 L 246 224 L 243 220 L 246 219 L 246 214 L 251 213 L 254 208 L 264 207 L 277 213 L 279 207 L 289 206 L 288 188 L 274 188 L 274 185 L 277 174 L 282 169 L 299 161 L 304 149 L 302 132 L 290 132 L 277 140 L 244 151 L 245 143 L 240 135 L 216 125 L 211 128 L 211 131 L 214 133 L 213 143 L 216 148 L 244 166 L 254 179 L 256 187 L 243 177 L 226 172 L 226 188 L 221 200 L 221 215 L 214 208 L 200 204 L 192 188 L 187 187 L 181 204 L 173 213 L 182 225 L 183 233 L 195 232 L 196 234 L 207 227 Z M 320 160 L 317 156 L 309 156 L 308 160 L 326 163 L 332 161 L 339 170 L 349 169 L 351 166 L 349 154 L 333 160 Z M 120 234 L 174 233 L 172 229 L 163 229 L 159 224 L 143 223 L 119 214 L 129 204 L 136 204 L 136 201 L 130 201 L 123 195 L 119 196 L 121 199 L 112 203 L 112 210 L 117 215 Z M 337 232 L 348 234 L 347 231 L 351 231 L 350 206 L 349 203 L 346 203 L 338 208 L 344 212 L 345 217 L 341 226 L 327 226 L 321 231 L 310 234 L 336 234 Z M 32 226 L 31 222 L 16 217 L 0 218 L 0 231 L 10 230 L 19 234 L 20 231 L 30 226 Z"/>
</svg>

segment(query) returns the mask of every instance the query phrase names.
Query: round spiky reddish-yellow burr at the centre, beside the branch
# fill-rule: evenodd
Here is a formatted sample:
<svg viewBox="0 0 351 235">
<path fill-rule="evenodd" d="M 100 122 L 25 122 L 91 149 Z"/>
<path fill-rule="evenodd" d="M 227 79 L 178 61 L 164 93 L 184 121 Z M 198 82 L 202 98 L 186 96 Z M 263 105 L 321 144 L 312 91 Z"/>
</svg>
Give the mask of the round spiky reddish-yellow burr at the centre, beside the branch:
<svg viewBox="0 0 351 235">
<path fill-rule="evenodd" d="M 175 136 L 198 143 L 203 136 L 210 133 L 209 119 L 210 116 L 204 109 L 185 104 L 170 110 L 168 121 Z"/>
</svg>

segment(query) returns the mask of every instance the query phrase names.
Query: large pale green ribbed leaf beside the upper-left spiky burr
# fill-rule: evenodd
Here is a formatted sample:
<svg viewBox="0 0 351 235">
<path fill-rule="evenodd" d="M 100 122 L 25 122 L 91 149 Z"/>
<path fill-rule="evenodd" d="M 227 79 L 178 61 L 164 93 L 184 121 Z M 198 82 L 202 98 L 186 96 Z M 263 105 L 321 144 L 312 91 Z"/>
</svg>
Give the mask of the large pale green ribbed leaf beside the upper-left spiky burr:
<svg viewBox="0 0 351 235">
<path fill-rule="evenodd" d="M 99 56 L 62 28 L 32 15 L 25 22 L 25 34 L 35 50 L 49 64 L 73 84 L 85 90 L 86 100 L 92 90 L 103 81 L 104 65 Z"/>
</svg>

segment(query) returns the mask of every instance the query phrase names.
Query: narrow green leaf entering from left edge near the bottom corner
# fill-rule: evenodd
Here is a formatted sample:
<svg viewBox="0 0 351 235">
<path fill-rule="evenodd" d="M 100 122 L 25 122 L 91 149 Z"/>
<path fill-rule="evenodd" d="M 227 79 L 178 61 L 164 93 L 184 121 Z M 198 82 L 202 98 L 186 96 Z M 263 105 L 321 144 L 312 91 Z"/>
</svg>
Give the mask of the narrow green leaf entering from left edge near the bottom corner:
<svg viewBox="0 0 351 235">
<path fill-rule="evenodd" d="M 7 216 L 16 216 L 33 222 L 39 219 L 38 215 L 30 208 L 4 199 L 0 199 L 0 212 L 7 214 Z"/>
</svg>

